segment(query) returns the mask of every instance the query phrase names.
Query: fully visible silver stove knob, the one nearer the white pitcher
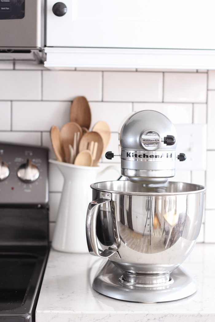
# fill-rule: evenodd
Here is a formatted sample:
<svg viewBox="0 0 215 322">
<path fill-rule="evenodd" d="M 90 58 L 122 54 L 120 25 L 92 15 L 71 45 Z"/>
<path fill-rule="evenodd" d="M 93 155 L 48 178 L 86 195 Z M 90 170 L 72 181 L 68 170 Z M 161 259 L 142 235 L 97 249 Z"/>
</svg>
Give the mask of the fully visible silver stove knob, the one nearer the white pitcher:
<svg viewBox="0 0 215 322">
<path fill-rule="evenodd" d="M 38 179 L 40 172 L 37 166 L 27 159 L 26 163 L 22 164 L 17 171 L 18 178 L 24 182 L 34 182 Z"/>
</svg>

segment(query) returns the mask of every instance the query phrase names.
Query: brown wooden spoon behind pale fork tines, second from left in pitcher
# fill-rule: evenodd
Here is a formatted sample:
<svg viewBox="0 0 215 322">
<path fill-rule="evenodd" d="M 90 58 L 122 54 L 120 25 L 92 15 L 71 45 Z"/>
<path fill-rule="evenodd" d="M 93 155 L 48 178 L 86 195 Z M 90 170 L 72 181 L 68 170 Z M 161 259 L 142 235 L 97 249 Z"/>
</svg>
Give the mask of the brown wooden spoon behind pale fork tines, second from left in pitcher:
<svg viewBox="0 0 215 322">
<path fill-rule="evenodd" d="M 82 128 L 80 127 L 80 125 L 78 125 L 75 122 L 66 123 L 63 126 L 63 128 L 61 129 L 61 140 L 62 140 L 63 147 L 64 147 L 65 160 L 68 163 L 70 161 L 69 144 L 74 149 L 74 135 L 76 133 L 76 136 L 77 136 L 78 132 L 80 133 L 80 138 L 81 138 L 82 137 Z M 77 143 L 79 143 L 79 142 L 77 142 Z M 76 153 L 75 153 L 75 156 L 76 156 Z"/>
</svg>

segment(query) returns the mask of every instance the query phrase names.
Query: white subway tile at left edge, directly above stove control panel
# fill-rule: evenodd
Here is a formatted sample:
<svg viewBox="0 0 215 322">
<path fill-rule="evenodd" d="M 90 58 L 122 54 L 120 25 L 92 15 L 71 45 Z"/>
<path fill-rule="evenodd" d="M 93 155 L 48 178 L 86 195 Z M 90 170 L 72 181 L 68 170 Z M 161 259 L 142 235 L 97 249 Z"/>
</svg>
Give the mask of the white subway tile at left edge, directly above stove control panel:
<svg viewBox="0 0 215 322">
<path fill-rule="evenodd" d="M 18 144 L 40 145 L 41 133 L 15 131 L 0 132 L 0 141 Z"/>
</svg>

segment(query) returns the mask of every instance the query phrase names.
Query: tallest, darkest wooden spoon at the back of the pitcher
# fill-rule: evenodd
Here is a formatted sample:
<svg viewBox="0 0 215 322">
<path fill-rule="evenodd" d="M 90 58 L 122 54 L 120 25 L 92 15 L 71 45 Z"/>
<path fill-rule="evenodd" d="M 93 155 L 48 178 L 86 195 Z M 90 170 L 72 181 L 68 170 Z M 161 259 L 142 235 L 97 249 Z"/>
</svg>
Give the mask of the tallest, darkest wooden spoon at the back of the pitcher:
<svg viewBox="0 0 215 322">
<path fill-rule="evenodd" d="M 70 121 L 78 123 L 81 127 L 90 128 L 90 106 L 84 96 L 78 96 L 73 100 L 70 109 Z"/>
</svg>

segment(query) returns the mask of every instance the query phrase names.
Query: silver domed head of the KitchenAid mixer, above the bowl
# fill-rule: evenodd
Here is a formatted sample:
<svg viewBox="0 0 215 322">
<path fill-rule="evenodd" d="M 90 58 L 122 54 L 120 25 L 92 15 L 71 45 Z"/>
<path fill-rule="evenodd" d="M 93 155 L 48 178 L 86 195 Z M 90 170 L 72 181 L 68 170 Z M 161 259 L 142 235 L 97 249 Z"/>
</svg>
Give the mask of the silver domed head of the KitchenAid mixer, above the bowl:
<svg viewBox="0 0 215 322">
<path fill-rule="evenodd" d="M 133 114 L 122 126 L 120 145 L 121 174 L 131 182 L 163 185 L 175 175 L 177 133 L 165 115 L 152 110 Z M 180 153 L 178 159 L 186 156 Z"/>
</svg>

